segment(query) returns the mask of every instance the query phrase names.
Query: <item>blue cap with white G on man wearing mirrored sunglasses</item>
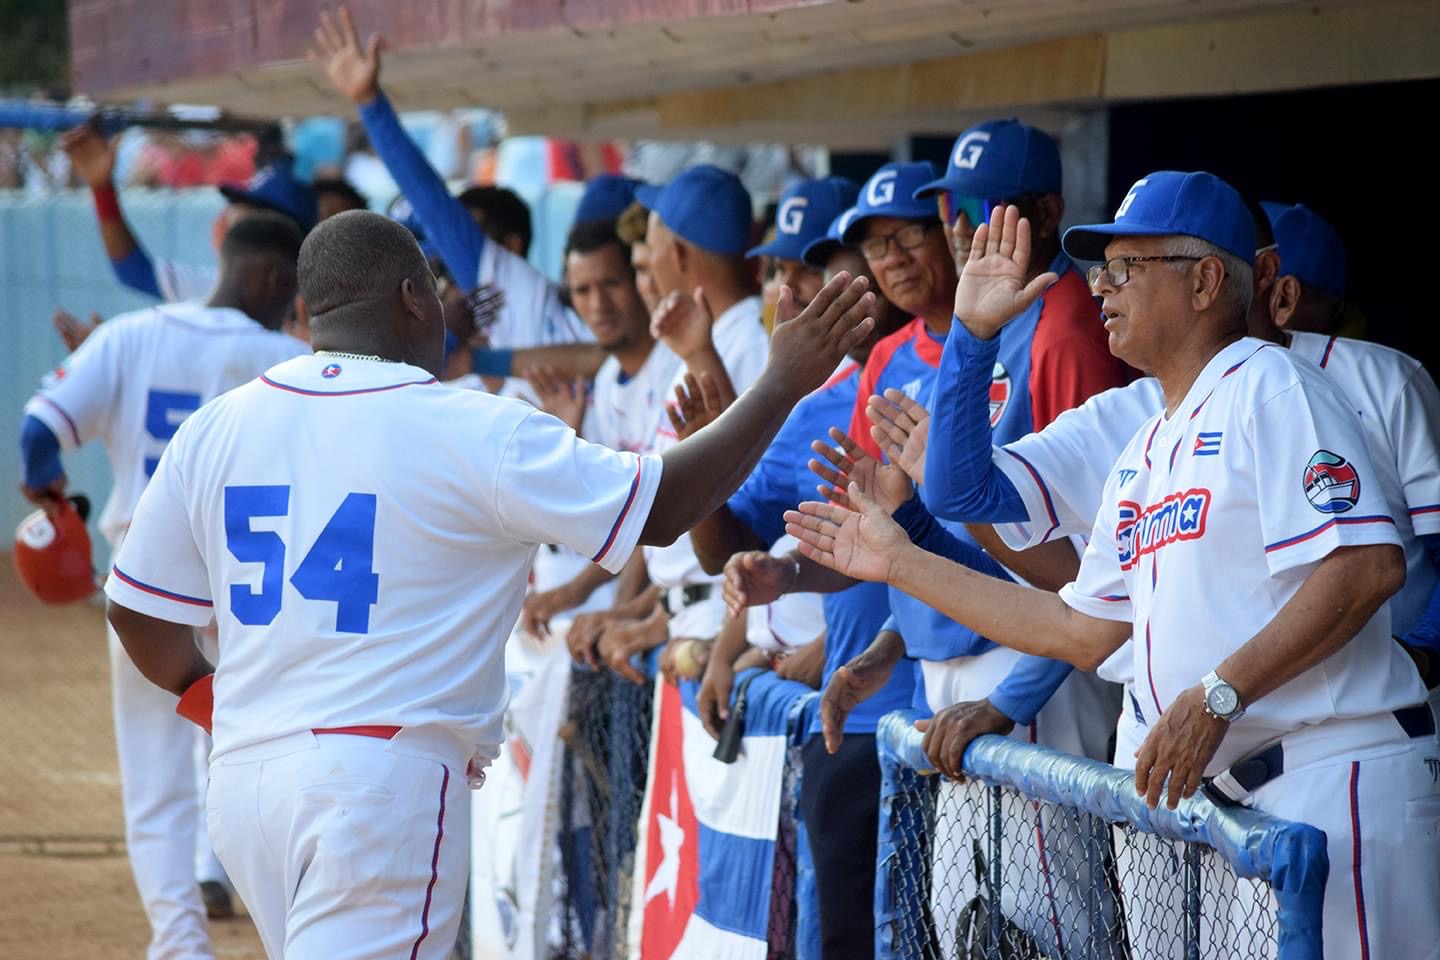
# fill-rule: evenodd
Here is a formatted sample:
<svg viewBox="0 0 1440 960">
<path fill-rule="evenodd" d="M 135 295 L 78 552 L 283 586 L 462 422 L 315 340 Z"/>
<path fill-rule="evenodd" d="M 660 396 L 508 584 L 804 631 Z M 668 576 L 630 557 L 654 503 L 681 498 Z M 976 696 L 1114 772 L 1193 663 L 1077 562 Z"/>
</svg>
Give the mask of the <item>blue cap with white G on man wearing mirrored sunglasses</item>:
<svg viewBox="0 0 1440 960">
<path fill-rule="evenodd" d="M 982 200 L 1014 200 L 1027 193 L 1060 193 L 1060 144 L 1018 119 L 986 119 L 955 140 L 939 180 L 922 184 L 916 199 L 949 190 Z"/>
</svg>

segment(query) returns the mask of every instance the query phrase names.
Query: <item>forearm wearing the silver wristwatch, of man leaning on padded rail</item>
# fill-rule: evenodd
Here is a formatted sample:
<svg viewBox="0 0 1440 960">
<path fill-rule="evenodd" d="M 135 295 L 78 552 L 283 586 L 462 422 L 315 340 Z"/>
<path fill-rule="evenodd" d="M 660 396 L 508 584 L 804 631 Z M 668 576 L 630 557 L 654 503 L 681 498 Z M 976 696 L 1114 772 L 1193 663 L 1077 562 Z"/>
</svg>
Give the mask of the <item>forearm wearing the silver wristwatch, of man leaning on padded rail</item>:
<svg viewBox="0 0 1440 960">
<path fill-rule="evenodd" d="M 1349 643 L 1404 584 L 1400 547 L 1341 547 L 1215 672 L 1253 704 Z"/>
</svg>

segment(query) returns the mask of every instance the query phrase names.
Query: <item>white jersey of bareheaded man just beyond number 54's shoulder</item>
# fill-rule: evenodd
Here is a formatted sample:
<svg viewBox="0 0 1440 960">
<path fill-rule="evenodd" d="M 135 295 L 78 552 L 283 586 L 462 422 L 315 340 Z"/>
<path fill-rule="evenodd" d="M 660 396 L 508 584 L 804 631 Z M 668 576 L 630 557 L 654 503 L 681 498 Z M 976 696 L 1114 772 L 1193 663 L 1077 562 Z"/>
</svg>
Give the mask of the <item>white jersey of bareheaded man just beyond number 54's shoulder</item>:
<svg viewBox="0 0 1440 960">
<path fill-rule="evenodd" d="M 684 364 L 662 343 L 651 348 L 634 377 L 624 374 L 619 360 L 606 357 L 595 374 L 585 435 L 616 450 L 651 450 L 661 427 L 670 427 L 665 404 L 675 396 L 677 374 L 684 376 Z"/>
</svg>

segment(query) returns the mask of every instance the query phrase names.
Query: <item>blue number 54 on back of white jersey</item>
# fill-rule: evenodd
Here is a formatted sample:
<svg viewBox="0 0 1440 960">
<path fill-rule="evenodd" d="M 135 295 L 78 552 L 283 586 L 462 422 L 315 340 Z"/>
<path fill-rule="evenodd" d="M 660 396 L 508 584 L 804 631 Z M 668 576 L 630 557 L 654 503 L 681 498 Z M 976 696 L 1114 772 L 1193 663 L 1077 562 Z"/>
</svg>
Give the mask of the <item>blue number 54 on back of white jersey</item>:
<svg viewBox="0 0 1440 960">
<path fill-rule="evenodd" d="M 255 517 L 289 514 L 289 486 L 226 486 L 225 545 L 240 563 L 264 564 L 261 589 L 230 584 L 230 612 L 248 626 L 266 626 L 285 594 L 285 541 L 272 530 L 252 530 Z M 347 494 L 289 577 L 307 600 L 336 604 L 337 633 L 369 633 L 370 607 L 380 597 L 374 573 L 374 494 Z"/>
</svg>

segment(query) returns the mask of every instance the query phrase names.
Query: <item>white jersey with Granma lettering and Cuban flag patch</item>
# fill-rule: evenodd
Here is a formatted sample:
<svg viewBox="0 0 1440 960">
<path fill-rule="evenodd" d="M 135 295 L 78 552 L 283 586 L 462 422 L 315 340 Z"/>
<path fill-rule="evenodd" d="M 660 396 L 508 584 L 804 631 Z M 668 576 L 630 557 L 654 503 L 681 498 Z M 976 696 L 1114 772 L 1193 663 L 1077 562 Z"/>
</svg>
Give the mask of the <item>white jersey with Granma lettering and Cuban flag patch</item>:
<svg viewBox="0 0 1440 960">
<path fill-rule="evenodd" d="M 1365 433 L 1312 364 L 1244 338 L 1120 453 L 1076 583 L 1081 613 L 1135 625 L 1146 721 L 1260 632 L 1339 547 L 1398 544 Z M 1424 701 L 1382 607 L 1339 652 L 1234 721 L 1207 773 L 1306 724 Z"/>
</svg>

